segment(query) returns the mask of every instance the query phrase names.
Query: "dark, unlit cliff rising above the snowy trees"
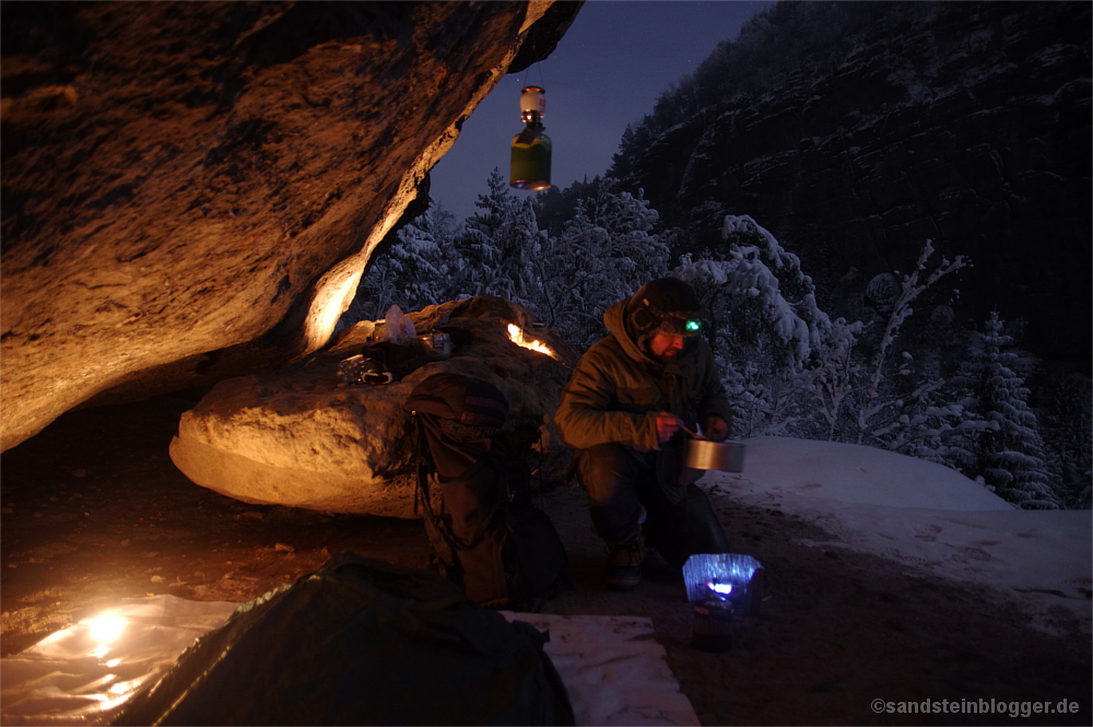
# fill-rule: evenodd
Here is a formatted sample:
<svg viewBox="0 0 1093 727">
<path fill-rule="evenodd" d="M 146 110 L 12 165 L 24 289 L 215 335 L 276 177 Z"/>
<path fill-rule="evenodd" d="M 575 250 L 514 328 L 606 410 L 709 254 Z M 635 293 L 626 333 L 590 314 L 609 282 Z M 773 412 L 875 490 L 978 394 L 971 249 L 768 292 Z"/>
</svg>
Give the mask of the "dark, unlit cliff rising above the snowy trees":
<svg viewBox="0 0 1093 727">
<path fill-rule="evenodd" d="M 1091 5 L 846 5 L 869 13 L 851 38 L 656 132 L 616 160 L 623 185 L 695 249 L 750 214 L 830 280 L 906 272 L 933 239 L 974 263 L 964 318 L 1026 318 L 1026 345 L 1088 366 Z"/>
</svg>

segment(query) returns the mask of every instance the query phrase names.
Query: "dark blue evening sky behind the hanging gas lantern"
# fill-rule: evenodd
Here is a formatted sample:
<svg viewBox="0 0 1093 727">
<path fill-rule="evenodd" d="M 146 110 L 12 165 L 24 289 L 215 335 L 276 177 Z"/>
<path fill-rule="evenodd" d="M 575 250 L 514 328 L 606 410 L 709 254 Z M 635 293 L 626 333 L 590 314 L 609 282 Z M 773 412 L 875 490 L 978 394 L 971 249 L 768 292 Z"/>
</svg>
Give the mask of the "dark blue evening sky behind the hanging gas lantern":
<svg viewBox="0 0 1093 727">
<path fill-rule="evenodd" d="M 475 212 L 494 167 L 508 175 L 520 121 L 520 89 L 546 90 L 543 124 L 554 145 L 551 181 L 603 174 L 626 125 L 653 110 L 669 85 L 694 72 L 721 40 L 775 4 L 744 0 L 589 0 L 550 58 L 506 75 L 463 124 L 433 168 L 432 197 L 462 221 Z M 516 195 L 521 192 L 513 190 Z"/>
</svg>

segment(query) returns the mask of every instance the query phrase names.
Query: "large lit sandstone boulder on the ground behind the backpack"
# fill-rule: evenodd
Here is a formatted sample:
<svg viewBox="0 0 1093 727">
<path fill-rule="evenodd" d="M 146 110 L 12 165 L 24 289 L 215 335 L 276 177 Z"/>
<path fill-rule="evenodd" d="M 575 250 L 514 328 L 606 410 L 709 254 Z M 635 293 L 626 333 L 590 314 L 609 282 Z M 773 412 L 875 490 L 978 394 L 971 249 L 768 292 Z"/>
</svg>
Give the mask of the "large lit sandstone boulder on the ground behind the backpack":
<svg viewBox="0 0 1093 727">
<path fill-rule="evenodd" d="M 506 426 L 540 429 L 536 464 L 556 477 L 566 450 L 551 415 L 577 361 L 573 348 L 502 298 L 450 302 L 409 317 L 419 333 L 447 331 L 451 357 L 390 384 L 345 384 L 339 362 L 375 335 L 375 324 L 362 321 L 304 362 L 218 384 L 183 414 L 172 460 L 197 484 L 245 502 L 413 517 L 415 433 L 401 406 L 419 382 L 453 372 L 501 389 L 510 408 Z M 559 357 L 513 343 L 510 325 Z"/>
</svg>

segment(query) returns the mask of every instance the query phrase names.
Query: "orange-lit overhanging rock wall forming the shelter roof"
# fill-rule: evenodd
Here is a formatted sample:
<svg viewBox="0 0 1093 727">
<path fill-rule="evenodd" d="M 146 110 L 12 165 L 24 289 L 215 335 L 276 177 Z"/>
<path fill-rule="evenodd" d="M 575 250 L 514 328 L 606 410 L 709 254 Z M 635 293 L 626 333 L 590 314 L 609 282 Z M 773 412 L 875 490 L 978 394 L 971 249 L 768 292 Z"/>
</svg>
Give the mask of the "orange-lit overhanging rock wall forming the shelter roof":
<svg viewBox="0 0 1093 727">
<path fill-rule="evenodd" d="M 0 8 L 8 448 L 326 342 L 463 119 L 579 3 Z"/>
</svg>

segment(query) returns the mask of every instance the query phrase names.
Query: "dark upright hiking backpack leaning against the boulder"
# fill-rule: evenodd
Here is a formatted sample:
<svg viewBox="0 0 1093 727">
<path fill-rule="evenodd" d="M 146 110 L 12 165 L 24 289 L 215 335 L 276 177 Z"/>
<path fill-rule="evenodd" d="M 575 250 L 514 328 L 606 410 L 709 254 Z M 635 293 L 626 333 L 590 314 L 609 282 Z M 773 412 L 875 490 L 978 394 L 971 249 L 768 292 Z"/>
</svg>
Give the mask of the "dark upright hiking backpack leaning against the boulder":
<svg viewBox="0 0 1093 727">
<path fill-rule="evenodd" d="M 419 384 L 403 408 L 418 433 L 418 500 L 431 565 L 472 600 L 538 610 L 566 581 L 566 554 L 550 517 L 531 504 L 525 459 L 538 431 L 504 431 L 496 387 L 459 374 Z M 430 481 L 440 490 L 434 511 Z"/>
</svg>

